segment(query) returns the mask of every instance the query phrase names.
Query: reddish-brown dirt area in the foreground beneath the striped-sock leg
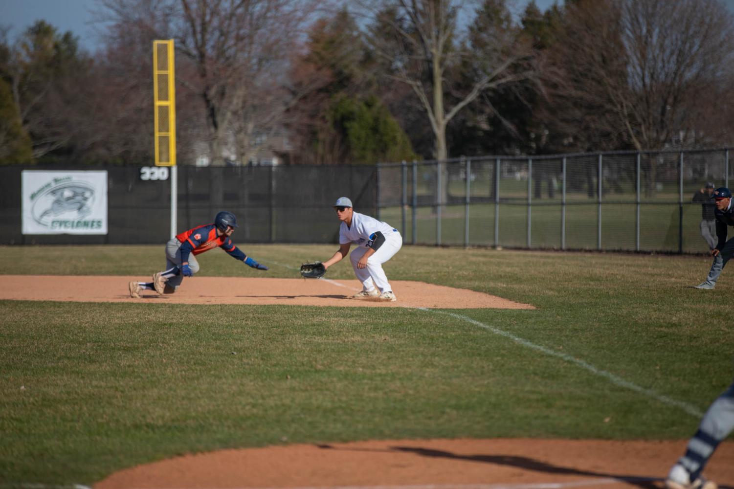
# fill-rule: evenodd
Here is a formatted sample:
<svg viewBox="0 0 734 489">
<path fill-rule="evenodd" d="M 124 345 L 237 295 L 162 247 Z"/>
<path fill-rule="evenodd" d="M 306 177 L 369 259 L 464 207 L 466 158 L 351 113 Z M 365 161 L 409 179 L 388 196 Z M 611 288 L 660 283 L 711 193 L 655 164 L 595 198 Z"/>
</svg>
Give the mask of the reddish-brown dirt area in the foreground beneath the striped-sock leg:
<svg viewBox="0 0 734 489">
<path fill-rule="evenodd" d="M 119 471 L 95 489 L 662 488 L 683 441 L 426 440 L 222 450 Z M 734 443 L 706 468 L 734 483 Z"/>
</svg>

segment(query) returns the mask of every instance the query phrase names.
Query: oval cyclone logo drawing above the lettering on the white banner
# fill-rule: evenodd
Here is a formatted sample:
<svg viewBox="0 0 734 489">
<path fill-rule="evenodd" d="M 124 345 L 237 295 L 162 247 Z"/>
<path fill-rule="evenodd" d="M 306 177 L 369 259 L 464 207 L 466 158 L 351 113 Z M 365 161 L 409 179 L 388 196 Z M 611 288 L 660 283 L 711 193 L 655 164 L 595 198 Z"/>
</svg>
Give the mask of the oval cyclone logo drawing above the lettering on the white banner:
<svg viewBox="0 0 734 489">
<path fill-rule="evenodd" d="M 51 226 L 55 219 L 81 220 L 92 212 L 94 188 L 83 181 L 70 181 L 51 186 L 35 197 L 33 219 L 40 225 Z"/>
</svg>

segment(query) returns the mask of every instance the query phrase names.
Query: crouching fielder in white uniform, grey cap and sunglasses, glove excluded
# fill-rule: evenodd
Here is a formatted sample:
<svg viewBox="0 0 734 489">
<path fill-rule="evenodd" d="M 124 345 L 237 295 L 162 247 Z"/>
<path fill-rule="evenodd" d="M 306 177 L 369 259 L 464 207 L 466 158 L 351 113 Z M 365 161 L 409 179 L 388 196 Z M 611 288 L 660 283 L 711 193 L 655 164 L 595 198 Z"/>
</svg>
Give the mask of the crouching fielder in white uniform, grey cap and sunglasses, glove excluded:
<svg viewBox="0 0 734 489">
<path fill-rule="evenodd" d="M 387 222 L 355 212 L 352 209 L 352 200 L 346 197 L 338 198 L 334 209 L 341 221 L 339 250 L 328 261 L 324 261 L 324 267 L 328 269 L 341 261 L 354 243 L 357 249 L 352 251 L 349 259 L 352 261 L 355 275 L 362 282 L 362 291 L 352 297 L 396 301 L 382 264 L 393 258 L 403 245 L 403 238 L 398 230 Z"/>
</svg>

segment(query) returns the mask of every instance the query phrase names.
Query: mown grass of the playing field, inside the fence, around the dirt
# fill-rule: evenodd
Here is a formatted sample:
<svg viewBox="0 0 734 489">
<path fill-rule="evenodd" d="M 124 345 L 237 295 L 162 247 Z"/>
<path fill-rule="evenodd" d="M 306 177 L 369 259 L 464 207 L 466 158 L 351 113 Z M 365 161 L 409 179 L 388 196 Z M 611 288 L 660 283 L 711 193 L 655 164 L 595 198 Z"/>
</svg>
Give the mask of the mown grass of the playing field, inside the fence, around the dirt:
<svg viewBox="0 0 734 489">
<path fill-rule="evenodd" d="M 296 278 L 337 245 L 242 248 L 269 272 L 215 250 L 201 275 Z M 162 245 L 0 253 L 3 275 L 163 265 Z M 716 290 L 688 287 L 709 265 L 411 246 L 385 265 L 391 280 L 530 311 L 0 301 L 0 486 L 91 485 L 178 454 L 286 443 L 685 439 L 733 376 L 734 269 Z M 353 275 L 343 261 L 328 277 Z"/>
</svg>

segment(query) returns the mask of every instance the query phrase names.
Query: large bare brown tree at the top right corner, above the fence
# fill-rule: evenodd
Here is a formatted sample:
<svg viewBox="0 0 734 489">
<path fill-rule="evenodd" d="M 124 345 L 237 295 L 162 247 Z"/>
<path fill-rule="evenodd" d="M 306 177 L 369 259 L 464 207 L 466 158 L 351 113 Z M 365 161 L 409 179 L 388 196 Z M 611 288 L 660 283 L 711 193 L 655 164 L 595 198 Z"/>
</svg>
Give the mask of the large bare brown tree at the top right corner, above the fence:
<svg viewBox="0 0 734 489">
<path fill-rule="evenodd" d="M 719 0 L 577 0 L 545 80 L 549 125 L 575 149 L 658 149 L 696 131 L 729 79 L 734 21 Z"/>
</svg>

